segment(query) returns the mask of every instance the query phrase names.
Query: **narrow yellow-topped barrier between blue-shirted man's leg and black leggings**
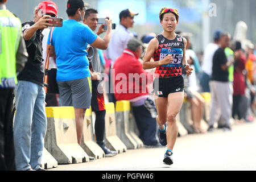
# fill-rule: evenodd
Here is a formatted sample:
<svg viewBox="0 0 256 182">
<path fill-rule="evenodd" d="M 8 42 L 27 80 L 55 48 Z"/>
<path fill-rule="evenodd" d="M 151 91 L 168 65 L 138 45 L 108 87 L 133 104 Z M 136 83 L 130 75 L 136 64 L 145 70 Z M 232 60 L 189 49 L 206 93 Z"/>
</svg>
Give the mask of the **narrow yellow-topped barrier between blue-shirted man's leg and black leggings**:
<svg viewBox="0 0 256 182">
<path fill-rule="evenodd" d="M 104 151 L 94 140 L 92 109 L 86 109 L 84 117 L 84 131 L 80 146 L 84 149 L 86 154 L 94 157 L 95 159 L 104 158 L 105 156 Z"/>
</svg>

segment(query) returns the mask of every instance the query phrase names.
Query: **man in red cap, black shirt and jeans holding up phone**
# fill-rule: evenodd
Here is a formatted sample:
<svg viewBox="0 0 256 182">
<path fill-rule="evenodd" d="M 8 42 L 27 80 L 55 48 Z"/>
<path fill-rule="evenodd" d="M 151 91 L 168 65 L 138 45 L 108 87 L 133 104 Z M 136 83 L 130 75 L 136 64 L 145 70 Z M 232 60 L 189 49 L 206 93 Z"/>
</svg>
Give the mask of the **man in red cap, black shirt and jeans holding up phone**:
<svg viewBox="0 0 256 182">
<path fill-rule="evenodd" d="M 28 61 L 15 88 L 14 148 L 19 171 L 44 171 L 40 167 L 47 129 L 42 31 L 52 26 L 49 17 L 56 15 L 56 4 L 43 1 L 35 9 L 34 20 L 22 24 Z"/>
</svg>

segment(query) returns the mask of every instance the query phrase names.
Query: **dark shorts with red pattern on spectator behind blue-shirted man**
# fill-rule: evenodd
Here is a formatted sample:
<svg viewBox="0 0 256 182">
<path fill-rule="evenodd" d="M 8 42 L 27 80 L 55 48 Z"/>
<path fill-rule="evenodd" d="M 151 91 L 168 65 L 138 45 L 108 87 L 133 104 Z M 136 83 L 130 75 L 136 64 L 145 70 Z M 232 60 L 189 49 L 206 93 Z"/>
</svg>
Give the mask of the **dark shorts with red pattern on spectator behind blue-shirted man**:
<svg viewBox="0 0 256 182">
<path fill-rule="evenodd" d="M 103 87 L 98 80 L 92 80 L 92 111 L 105 110 Z"/>
</svg>

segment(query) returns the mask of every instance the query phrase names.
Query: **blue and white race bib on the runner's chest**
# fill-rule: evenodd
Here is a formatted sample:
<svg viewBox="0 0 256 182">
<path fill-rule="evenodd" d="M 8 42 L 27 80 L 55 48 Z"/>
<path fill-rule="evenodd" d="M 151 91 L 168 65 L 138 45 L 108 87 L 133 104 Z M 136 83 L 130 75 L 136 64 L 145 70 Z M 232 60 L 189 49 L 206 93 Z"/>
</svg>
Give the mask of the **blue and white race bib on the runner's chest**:
<svg viewBox="0 0 256 182">
<path fill-rule="evenodd" d="M 174 59 L 172 64 L 163 65 L 163 67 L 176 67 L 181 64 L 183 58 L 183 50 L 180 48 L 162 48 L 160 52 L 160 60 L 163 60 L 167 55 L 171 55 Z"/>
</svg>

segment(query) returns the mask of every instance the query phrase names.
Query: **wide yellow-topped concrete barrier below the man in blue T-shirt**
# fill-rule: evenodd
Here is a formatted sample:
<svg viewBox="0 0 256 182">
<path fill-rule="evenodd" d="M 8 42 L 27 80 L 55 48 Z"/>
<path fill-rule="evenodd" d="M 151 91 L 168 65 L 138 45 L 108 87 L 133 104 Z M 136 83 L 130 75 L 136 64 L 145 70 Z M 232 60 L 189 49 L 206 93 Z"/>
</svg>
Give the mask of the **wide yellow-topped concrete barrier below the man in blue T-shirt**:
<svg viewBox="0 0 256 182">
<path fill-rule="evenodd" d="M 47 133 L 44 146 L 58 164 L 89 162 L 89 156 L 77 143 L 73 107 L 46 107 Z"/>
</svg>

